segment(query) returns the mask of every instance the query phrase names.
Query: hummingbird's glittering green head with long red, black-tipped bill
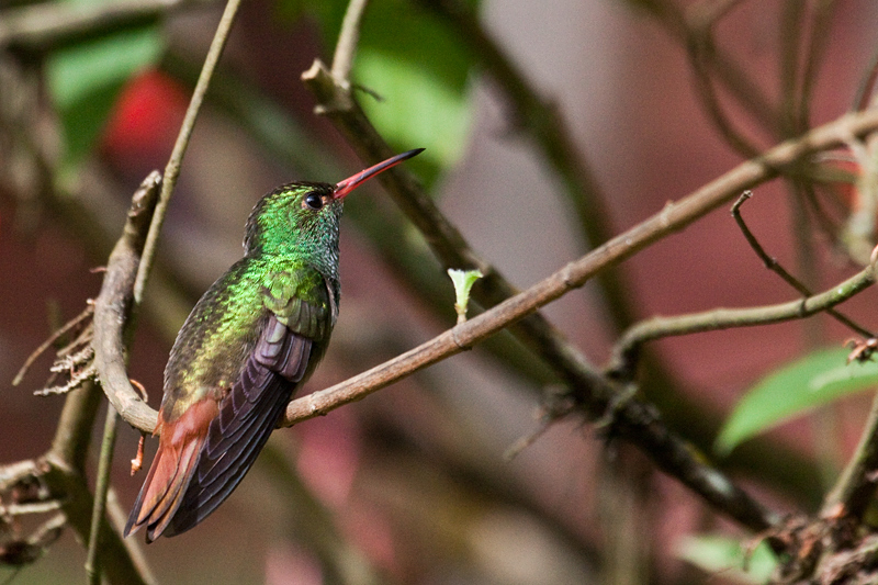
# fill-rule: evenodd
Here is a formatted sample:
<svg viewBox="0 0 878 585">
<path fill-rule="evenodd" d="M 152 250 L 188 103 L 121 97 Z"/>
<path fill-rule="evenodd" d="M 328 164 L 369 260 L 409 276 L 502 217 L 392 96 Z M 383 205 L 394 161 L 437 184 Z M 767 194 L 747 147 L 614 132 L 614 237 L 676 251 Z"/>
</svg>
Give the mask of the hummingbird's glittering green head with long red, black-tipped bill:
<svg viewBox="0 0 878 585">
<path fill-rule="evenodd" d="M 338 267 L 338 224 L 345 196 L 375 175 L 424 150 L 409 150 L 345 179 L 329 183 L 283 184 L 256 204 L 244 236 L 244 254 L 291 255 L 335 275 Z"/>
</svg>

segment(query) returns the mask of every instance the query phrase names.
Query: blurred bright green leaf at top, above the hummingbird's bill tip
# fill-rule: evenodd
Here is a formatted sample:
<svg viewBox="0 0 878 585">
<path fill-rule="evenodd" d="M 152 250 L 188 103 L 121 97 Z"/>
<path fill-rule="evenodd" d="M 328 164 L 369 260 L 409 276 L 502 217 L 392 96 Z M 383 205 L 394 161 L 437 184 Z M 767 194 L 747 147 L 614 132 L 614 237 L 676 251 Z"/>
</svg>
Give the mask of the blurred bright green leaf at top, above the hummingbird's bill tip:
<svg viewBox="0 0 878 585">
<path fill-rule="evenodd" d="M 288 16 L 316 19 L 335 48 L 347 0 L 281 0 Z M 475 9 L 477 2 L 469 1 Z M 352 81 L 381 99 L 360 93 L 367 115 L 397 150 L 424 147 L 412 161 L 430 182 L 462 154 L 472 119 L 470 72 L 476 60 L 440 21 L 408 0 L 369 4 L 351 74 Z"/>
</svg>

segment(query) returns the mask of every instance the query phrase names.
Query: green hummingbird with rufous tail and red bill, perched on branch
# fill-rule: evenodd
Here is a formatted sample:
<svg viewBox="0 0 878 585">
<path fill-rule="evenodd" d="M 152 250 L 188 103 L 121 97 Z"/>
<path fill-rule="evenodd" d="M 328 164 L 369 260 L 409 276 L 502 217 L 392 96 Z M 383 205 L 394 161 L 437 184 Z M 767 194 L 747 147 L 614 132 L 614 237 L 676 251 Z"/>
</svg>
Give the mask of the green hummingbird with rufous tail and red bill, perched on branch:
<svg viewBox="0 0 878 585">
<path fill-rule="evenodd" d="M 171 348 L 158 450 L 124 536 L 146 527 L 151 542 L 185 532 L 237 487 L 329 342 L 345 196 L 423 150 L 336 185 L 283 184 L 256 204 L 244 258 L 207 289 Z"/>
</svg>

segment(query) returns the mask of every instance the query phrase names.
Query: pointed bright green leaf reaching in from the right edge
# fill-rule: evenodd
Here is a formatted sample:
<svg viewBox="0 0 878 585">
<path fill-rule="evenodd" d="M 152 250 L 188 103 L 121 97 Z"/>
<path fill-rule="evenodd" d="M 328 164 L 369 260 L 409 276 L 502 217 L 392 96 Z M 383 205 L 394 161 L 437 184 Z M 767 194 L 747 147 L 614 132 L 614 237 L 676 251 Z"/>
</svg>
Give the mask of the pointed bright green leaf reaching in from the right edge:
<svg viewBox="0 0 878 585">
<path fill-rule="evenodd" d="M 847 364 L 848 353 L 845 348 L 815 351 L 765 376 L 725 421 L 717 438 L 717 452 L 728 454 L 758 432 L 878 384 L 878 363 Z"/>
</svg>

